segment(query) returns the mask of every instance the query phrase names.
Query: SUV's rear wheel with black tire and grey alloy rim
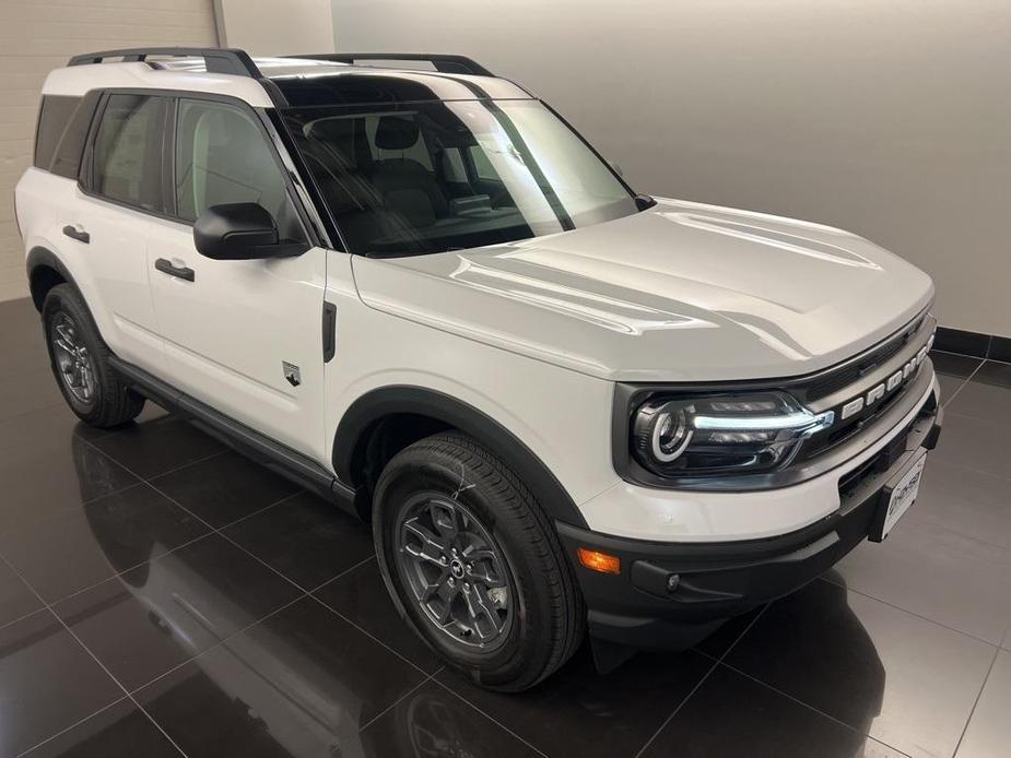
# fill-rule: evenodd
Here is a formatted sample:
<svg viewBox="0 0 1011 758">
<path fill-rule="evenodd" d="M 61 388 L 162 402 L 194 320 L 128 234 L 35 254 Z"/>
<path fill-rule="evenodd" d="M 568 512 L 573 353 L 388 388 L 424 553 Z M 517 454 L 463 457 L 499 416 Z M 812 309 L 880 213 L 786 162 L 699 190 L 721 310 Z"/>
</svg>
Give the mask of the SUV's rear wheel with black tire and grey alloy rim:
<svg viewBox="0 0 1011 758">
<path fill-rule="evenodd" d="M 130 390 L 113 369 L 109 348 L 72 285 L 58 284 L 46 294 L 43 328 L 52 375 L 78 418 L 107 428 L 140 414 L 144 398 Z"/>
</svg>

